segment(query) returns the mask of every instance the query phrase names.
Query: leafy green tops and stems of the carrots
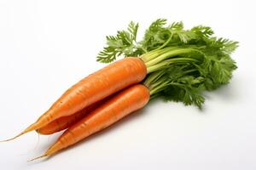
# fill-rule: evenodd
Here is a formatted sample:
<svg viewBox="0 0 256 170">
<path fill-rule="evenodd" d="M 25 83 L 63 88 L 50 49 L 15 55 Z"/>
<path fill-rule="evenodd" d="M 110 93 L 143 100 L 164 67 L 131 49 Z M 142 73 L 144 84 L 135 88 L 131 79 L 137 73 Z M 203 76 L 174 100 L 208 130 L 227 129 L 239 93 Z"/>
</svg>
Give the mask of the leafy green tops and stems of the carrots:
<svg viewBox="0 0 256 170">
<path fill-rule="evenodd" d="M 166 26 L 166 20 L 159 19 L 141 41 L 137 41 L 137 30 L 138 24 L 131 22 L 127 31 L 108 36 L 97 61 L 109 63 L 119 56 L 143 59 L 148 71 L 143 83 L 150 89 L 151 99 L 163 97 L 201 108 L 203 91 L 227 84 L 236 70 L 230 54 L 238 42 L 214 37 L 208 26 L 185 30 L 182 22 Z"/>
</svg>

